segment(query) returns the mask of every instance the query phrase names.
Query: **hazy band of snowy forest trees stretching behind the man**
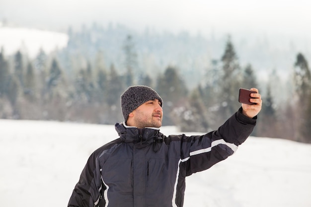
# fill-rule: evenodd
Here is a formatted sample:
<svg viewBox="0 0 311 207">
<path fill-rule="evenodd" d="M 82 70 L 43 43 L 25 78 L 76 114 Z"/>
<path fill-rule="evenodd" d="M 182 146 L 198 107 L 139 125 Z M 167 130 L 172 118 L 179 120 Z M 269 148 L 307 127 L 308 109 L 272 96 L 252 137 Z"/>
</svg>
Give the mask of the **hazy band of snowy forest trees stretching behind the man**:
<svg viewBox="0 0 311 207">
<path fill-rule="evenodd" d="M 123 120 L 120 95 L 128 86 L 141 84 L 156 89 L 164 100 L 163 125 L 206 132 L 217 129 L 240 107 L 238 88 L 257 87 L 265 93 L 253 136 L 311 142 L 311 75 L 301 53 L 293 63 L 293 96 L 276 104 L 271 89 L 278 76 L 272 73 L 265 88 L 260 88 L 256 70 L 251 64 L 240 66 L 230 38 L 218 60 L 211 60 L 208 68 L 193 71 L 200 71 L 204 78 L 189 87 L 178 64 L 159 68 L 150 63 L 151 69 L 141 69 L 141 53 L 131 35 L 123 37 L 119 52 L 122 59 L 109 61 L 105 54 L 118 48 L 88 48 L 101 44 L 94 33 L 70 30 L 69 37 L 66 49 L 52 54 L 40 50 L 35 59 L 21 51 L 5 56 L 1 50 L 1 119 L 115 124 Z"/>
</svg>

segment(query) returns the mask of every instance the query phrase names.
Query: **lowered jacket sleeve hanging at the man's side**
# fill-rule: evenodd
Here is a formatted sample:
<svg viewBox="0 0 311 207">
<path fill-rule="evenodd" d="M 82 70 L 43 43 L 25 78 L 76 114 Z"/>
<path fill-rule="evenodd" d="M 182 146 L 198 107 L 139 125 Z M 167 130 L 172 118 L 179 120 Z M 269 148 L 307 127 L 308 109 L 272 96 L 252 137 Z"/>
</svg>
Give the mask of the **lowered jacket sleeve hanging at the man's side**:
<svg viewBox="0 0 311 207">
<path fill-rule="evenodd" d="M 68 207 L 97 207 L 102 198 L 103 186 L 99 162 L 93 152 L 82 170 Z"/>
</svg>

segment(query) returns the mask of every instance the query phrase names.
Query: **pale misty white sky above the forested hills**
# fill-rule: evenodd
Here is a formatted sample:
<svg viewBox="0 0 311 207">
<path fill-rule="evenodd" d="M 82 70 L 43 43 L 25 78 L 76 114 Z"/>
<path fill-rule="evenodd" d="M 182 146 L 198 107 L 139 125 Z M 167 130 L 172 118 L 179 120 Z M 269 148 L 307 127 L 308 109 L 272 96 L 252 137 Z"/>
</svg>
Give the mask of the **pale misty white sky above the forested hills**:
<svg viewBox="0 0 311 207">
<path fill-rule="evenodd" d="M 0 0 L 0 20 L 66 31 L 109 22 L 137 30 L 256 32 L 306 37 L 310 0 Z"/>
</svg>

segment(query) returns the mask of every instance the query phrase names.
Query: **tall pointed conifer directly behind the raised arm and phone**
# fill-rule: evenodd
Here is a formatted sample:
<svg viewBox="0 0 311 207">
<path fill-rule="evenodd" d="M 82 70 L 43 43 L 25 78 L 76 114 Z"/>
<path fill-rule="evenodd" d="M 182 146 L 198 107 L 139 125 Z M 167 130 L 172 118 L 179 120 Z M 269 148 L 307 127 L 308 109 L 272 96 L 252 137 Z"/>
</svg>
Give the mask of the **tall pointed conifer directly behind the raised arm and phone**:
<svg viewBox="0 0 311 207">
<path fill-rule="evenodd" d="M 226 42 L 223 55 L 219 60 L 212 60 L 210 68 L 206 71 L 204 82 L 199 87 L 201 88 L 200 94 L 208 109 L 208 126 L 211 129 L 217 129 L 240 107 L 237 95 L 240 87 L 246 87 L 243 84 L 244 76 L 249 76 L 247 79 L 254 77 L 252 77 L 253 74 L 242 73 L 230 37 Z M 248 72 L 252 72 L 250 66 Z"/>
</svg>

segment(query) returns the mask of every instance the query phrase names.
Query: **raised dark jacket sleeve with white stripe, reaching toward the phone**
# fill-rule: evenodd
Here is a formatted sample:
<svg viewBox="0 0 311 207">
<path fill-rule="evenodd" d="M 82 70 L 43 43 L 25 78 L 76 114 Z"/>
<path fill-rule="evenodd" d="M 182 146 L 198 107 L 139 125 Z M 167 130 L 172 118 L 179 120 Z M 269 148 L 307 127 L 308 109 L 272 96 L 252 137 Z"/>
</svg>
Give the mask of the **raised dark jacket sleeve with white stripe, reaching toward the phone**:
<svg viewBox="0 0 311 207">
<path fill-rule="evenodd" d="M 253 131 L 257 117 L 244 116 L 241 108 L 218 130 L 202 136 L 183 136 L 181 161 L 186 176 L 206 170 L 232 155 Z"/>
</svg>

